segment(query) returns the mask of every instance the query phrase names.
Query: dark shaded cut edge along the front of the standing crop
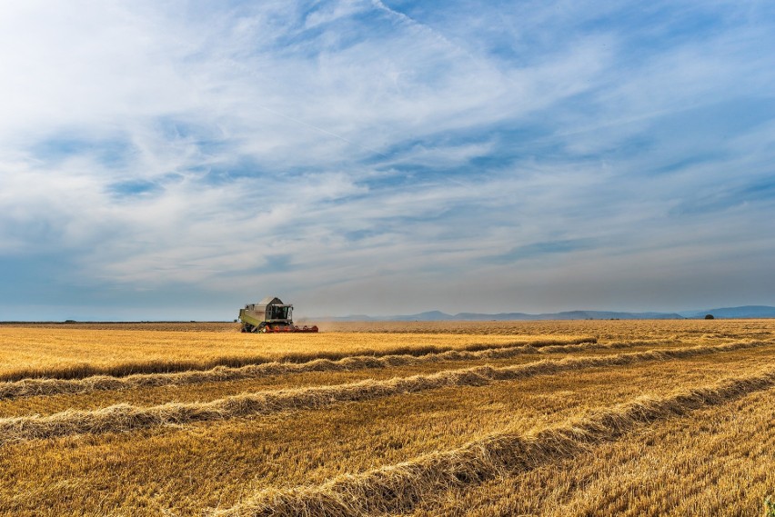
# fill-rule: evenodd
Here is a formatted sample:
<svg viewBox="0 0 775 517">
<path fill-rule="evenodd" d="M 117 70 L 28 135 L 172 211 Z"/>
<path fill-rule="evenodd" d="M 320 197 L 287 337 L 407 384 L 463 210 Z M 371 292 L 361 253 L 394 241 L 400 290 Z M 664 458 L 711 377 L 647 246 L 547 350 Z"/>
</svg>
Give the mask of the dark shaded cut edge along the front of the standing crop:
<svg viewBox="0 0 775 517">
<path fill-rule="evenodd" d="M 567 346 L 571 344 L 597 343 L 595 336 L 572 336 L 568 338 L 544 338 L 533 340 L 515 340 L 507 343 L 470 343 L 463 346 L 392 346 L 381 350 L 367 350 L 359 355 L 367 357 L 384 357 L 387 355 L 411 355 L 421 357 L 428 354 L 444 352 L 478 352 L 492 348 L 512 348 L 532 346 L 534 348 Z M 119 363 L 110 366 L 95 366 L 92 364 L 75 364 L 53 368 L 23 368 L 0 373 L 0 382 L 15 382 L 25 379 L 84 379 L 93 376 L 126 377 L 138 373 L 178 373 L 202 372 L 218 366 L 239 368 L 248 365 L 266 363 L 310 363 L 317 360 L 339 361 L 354 357 L 352 353 L 319 352 L 319 353 L 286 353 L 279 356 L 257 355 L 243 357 L 217 357 L 206 361 L 146 361 L 136 363 Z"/>
</svg>

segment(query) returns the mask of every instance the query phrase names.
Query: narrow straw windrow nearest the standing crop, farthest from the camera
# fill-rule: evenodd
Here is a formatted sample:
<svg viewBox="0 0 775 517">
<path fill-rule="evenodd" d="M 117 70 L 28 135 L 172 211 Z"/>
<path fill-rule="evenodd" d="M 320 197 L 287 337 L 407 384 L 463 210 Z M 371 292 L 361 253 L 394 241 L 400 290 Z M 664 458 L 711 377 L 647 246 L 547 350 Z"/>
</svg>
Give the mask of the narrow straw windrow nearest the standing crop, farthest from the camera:
<svg viewBox="0 0 775 517">
<path fill-rule="evenodd" d="M 667 343 L 667 342 L 666 342 Z M 671 343 L 671 342 L 670 342 Z M 654 343 L 650 343 L 654 344 Z M 426 355 L 354 355 L 332 361 L 316 359 L 307 363 L 263 363 L 249 364 L 238 368 L 216 366 L 210 370 L 178 373 L 136 373 L 126 377 L 96 375 L 84 379 L 22 379 L 10 383 L 0 383 L 0 399 L 19 397 L 47 396 L 58 394 L 93 393 L 118 391 L 131 388 L 159 386 L 184 386 L 199 383 L 219 383 L 259 379 L 274 375 L 289 375 L 306 372 L 354 372 L 357 370 L 395 368 L 425 363 L 443 363 L 458 361 L 476 361 L 482 359 L 508 359 L 519 355 L 575 353 L 594 350 L 617 350 L 629 348 L 628 343 L 574 343 L 549 345 L 536 348 L 533 345 L 488 348 L 476 352 L 450 350 Z"/>
</svg>

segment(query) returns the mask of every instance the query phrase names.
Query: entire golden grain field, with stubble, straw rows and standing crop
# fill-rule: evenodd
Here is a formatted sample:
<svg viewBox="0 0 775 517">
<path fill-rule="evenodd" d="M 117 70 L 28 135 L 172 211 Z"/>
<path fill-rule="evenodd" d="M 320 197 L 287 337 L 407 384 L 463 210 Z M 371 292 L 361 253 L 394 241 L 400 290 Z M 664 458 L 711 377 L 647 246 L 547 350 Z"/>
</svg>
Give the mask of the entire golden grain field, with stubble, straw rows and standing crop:
<svg viewBox="0 0 775 517">
<path fill-rule="evenodd" d="M 762 515 L 775 321 L 0 325 L 3 515 Z"/>
</svg>

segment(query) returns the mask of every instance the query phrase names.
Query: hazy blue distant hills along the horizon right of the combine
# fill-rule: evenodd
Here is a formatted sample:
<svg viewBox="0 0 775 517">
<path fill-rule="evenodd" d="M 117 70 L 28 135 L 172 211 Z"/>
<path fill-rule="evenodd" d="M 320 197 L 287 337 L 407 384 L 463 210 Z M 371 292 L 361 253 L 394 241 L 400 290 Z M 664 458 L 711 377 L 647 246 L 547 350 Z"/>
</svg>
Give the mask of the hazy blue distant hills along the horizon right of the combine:
<svg viewBox="0 0 775 517">
<path fill-rule="evenodd" d="M 715 318 L 775 318 L 775 307 L 770 305 L 744 305 L 722 307 L 703 311 L 682 311 L 680 313 L 623 313 L 617 311 L 564 311 L 561 313 L 457 313 L 441 311 L 402 314 L 394 316 L 368 316 L 353 314 L 329 318 L 305 318 L 329 322 L 485 322 L 485 321 L 538 321 L 538 320 L 683 320 L 701 319 L 706 314 Z"/>
</svg>

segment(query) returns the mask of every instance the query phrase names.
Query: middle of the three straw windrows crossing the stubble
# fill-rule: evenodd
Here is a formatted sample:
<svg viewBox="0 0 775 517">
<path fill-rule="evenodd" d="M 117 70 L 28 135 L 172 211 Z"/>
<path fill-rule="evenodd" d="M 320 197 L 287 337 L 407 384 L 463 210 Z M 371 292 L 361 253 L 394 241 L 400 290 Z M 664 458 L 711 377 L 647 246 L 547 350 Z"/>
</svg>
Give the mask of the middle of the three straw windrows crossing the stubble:
<svg viewBox="0 0 775 517">
<path fill-rule="evenodd" d="M 497 381 L 518 380 L 536 375 L 579 371 L 600 366 L 669 361 L 670 359 L 755 348 L 765 344 L 772 343 L 700 345 L 667 351 L 652 350 L 606 356 L 543 360 L 500 368 L 478 366 L 446 370 L 428 375 L 394 377 L 380 381 L 367 379 L 357 383 L 241 393 L 208 403 L 165 403 L 156 406 L 133 406 L 120 403 L 93 411 L 66 410 L 62 413 L 45 416 L 6 417 L 0 418 L 0 445 L 7 442 L 72 434 L 128 432 L 163 425 L 221 421 L 287 410 L 320 409 L 334 403 L 362 402 L 390 395 L 419 393 L 445 387 L 483 386 Z"/>
</svg>

